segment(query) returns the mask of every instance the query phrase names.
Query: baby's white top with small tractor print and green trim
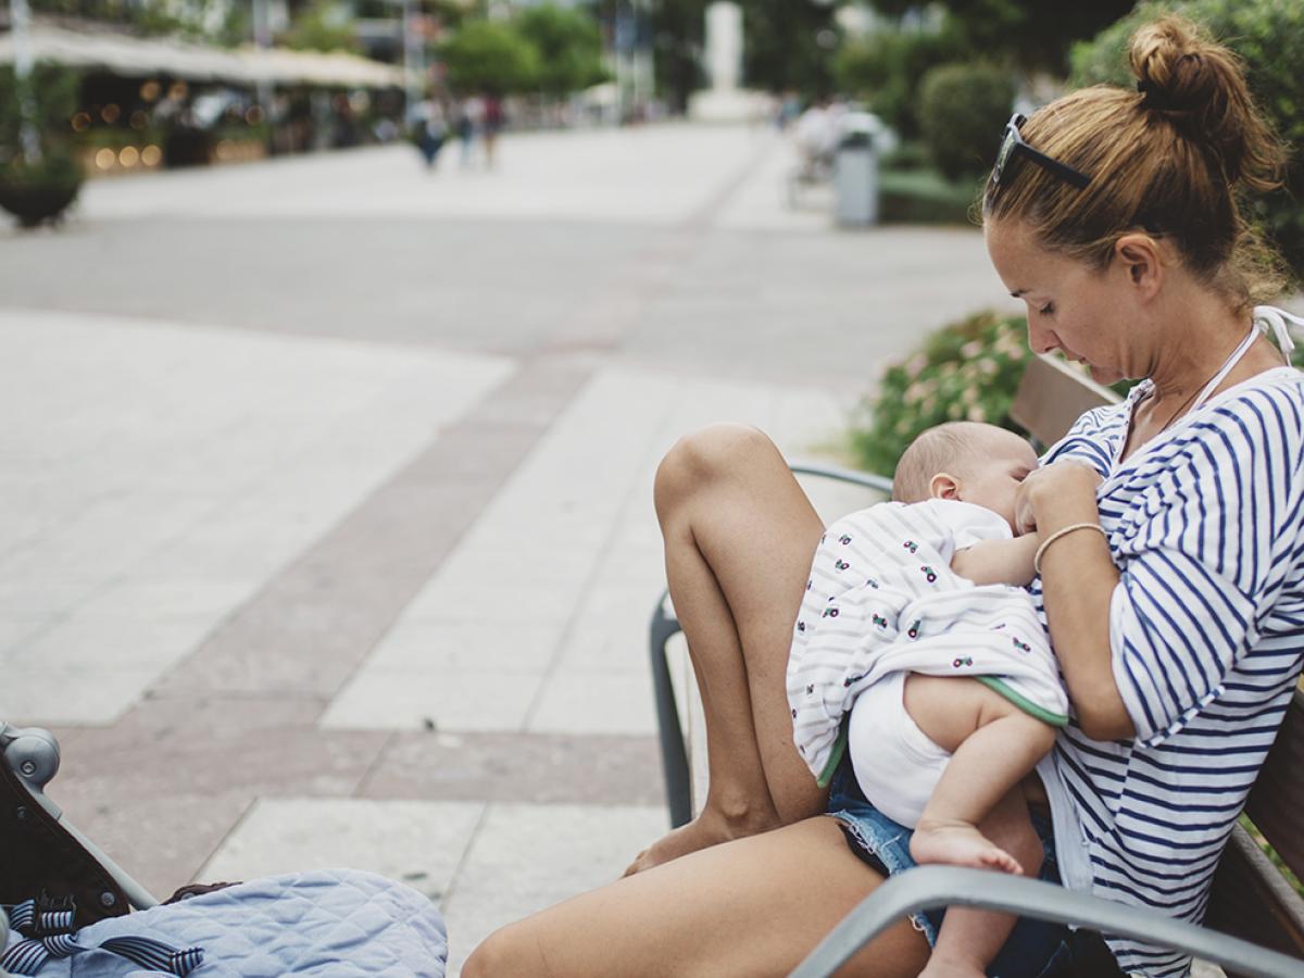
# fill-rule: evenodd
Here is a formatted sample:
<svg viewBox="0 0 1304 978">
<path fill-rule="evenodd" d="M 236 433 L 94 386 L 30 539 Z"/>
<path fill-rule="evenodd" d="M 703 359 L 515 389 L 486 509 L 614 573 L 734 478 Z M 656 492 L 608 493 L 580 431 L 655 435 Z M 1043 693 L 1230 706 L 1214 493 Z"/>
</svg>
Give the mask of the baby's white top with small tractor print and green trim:
<svg viewBox="0 0 1304 978">
<path fill-rule="evenodd" d="M 956 550 L 1011 537 L 991 510 L 953 499 L 883 502 L 825 531 L 788 655 L 793 738 L 822 785 L 841 760 L 844 713 L 901 673 L 974 677 L 1048 724 L 1068 721 L 1028 592 L 951 570 Z"/>
</svg>

